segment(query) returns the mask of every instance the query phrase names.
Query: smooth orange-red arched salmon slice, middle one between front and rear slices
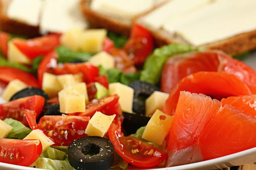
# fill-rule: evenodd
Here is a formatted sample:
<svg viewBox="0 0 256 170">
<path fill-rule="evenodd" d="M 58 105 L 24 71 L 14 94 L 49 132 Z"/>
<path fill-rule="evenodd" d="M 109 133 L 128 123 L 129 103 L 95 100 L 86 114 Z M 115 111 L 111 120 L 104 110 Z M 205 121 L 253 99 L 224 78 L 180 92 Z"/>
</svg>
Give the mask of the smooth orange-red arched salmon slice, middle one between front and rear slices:
<svg viewBox="0 0 256 170">
<path fill-rule="evenodd" d="M 197 72 L 183 78 L 166 100 L 164 111 L 174 115 L 180 91 L 205 94 L 221 100 L 229 96 L 250 95 L 250 89 L 235 76 L 219 72 Z"/>
</svg>

